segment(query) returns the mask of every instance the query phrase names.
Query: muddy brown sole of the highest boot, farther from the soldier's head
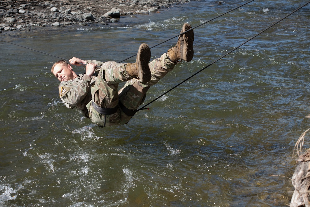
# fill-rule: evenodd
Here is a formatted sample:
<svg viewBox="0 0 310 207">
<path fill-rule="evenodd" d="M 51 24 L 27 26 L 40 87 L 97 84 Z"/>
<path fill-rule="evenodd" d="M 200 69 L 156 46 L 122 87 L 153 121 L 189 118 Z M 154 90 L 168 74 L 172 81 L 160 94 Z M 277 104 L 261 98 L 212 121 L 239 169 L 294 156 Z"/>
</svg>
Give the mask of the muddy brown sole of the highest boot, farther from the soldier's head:
<svg viewBox="0 0 310 207">
<path fill-rule="evenodd" d="M 187 23 L 184 24 L 181 30 L 181 34 L 190 29 L 192 29 L 191 25 Z M 189 62 L 193 59 L 193 56 L 194 56 L 194 49 L 193 49 L 194 31 L 193 29 L 183 34 L 183 39 L 184 39 L 184 47 L 182 51 L 183 60 Z"/>
</svg>

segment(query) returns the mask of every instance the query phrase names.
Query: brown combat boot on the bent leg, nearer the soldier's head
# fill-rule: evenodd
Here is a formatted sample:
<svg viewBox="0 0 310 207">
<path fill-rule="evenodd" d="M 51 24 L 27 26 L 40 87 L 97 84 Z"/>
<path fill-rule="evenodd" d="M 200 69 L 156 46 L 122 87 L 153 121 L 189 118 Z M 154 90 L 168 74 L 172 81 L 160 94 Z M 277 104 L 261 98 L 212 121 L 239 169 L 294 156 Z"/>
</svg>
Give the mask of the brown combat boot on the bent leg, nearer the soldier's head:
<svg viewBox="0 0 310 207">
<path fill-rule="evenodd" d="M 151 71 L 148 63 L 151 59 L 151 49 L 147 44 L 141 44 L 137 54 L 135 63 L 127 63 L 126 71 L 134 78 L 141 79 L 142 82 L 147 83 L 151 80 Z"/>
</svg>

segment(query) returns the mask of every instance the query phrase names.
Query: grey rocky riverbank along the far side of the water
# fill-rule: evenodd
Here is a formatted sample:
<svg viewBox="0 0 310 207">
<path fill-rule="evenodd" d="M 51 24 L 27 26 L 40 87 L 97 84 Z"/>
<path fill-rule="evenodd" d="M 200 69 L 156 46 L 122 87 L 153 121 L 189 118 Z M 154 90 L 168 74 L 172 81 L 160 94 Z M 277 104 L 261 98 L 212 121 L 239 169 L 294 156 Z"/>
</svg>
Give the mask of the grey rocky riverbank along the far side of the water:
<svg viewBox="0 0 310 207">
<path fill-rule="evenodd" d="M 91 26 L 118 22 L 121 16 L 159 12 L 190 0 L 0 0 L 0 33 L 46 26 Z"/>
</svg>

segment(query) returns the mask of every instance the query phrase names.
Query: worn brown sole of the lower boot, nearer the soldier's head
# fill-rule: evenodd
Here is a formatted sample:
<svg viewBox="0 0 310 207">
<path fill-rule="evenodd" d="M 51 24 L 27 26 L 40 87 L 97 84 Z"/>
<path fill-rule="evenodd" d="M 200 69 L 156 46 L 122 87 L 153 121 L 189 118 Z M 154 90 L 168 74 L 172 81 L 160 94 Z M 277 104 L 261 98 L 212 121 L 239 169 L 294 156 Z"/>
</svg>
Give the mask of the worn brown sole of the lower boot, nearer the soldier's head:
<svg viewBox="0 0 310 207">
<path fill-rule="evenodd" d="M 142 82 L 147 83 L 151 80 L 151 71 L 148 66 L 148 63 L 151 59 L 151 49 L 147 44 L 143 43 L 140 45 L 137 53 L 137 72 L 139 79 Z"/>
</svg>

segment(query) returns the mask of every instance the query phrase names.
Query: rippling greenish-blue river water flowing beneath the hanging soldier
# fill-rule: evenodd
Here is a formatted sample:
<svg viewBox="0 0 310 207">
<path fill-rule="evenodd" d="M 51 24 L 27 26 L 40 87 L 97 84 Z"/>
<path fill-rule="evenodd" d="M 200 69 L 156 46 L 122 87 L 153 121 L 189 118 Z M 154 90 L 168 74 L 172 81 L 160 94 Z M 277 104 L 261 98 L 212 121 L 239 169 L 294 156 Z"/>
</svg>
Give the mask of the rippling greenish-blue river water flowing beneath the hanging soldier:
<svg viewBox="0 0 310 207">
<path fill-rule="evenodd" d="M 1 38 L 64 59 L 122 61 L 141 43 L 178 35 L 184 22 L 197 26 L 244 2 L 188 2 L 104 27 Z M 304 3 L 256 0 L 196 28 L 193 61 L 150 88 L 145 104 Z M 310 126 L 309 9 L 116 128 L 99 128 L 63 105 L 50 73 L 59 58 L 0 42 L 0 206 L 289 204 L 294 144 Z M 175 43 L 152 48 L 152 58 Z"/>
</svg>

